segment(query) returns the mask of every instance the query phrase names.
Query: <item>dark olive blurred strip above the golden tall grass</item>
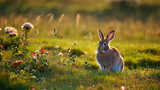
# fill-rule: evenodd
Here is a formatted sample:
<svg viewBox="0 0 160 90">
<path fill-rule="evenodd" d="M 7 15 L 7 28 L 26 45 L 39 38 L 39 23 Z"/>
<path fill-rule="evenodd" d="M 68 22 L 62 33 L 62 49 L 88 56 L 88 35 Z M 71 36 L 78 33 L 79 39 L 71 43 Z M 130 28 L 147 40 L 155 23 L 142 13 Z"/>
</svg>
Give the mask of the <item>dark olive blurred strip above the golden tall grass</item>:
<svg viewBox="0 0 160 90">
<path fill-rule="evenodd" d="M 159 0 L 0 0 L 0 15 L 81 13 L 101 17 L 160 19 Z"/>
</svg>

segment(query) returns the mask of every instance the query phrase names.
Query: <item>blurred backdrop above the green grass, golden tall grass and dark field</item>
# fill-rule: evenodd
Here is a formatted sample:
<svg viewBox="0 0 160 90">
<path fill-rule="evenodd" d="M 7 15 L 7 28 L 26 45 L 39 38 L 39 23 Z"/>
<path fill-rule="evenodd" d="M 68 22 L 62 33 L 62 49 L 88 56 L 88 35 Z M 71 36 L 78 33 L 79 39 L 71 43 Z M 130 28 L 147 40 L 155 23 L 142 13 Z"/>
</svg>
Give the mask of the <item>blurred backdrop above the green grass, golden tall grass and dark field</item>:
<svg viewBox="0 0 160 90">
<path fill-rule="evenodd" d="M 116 40 L 158 42 L 160 37 L 158 0 L 0 0 L 0 17 L 1 28 L 20 29 L 29 21 L 44 37 L 56 31 L 59 37 L 98 40 L 97 29 L 115 29 Z"/>
</svg>

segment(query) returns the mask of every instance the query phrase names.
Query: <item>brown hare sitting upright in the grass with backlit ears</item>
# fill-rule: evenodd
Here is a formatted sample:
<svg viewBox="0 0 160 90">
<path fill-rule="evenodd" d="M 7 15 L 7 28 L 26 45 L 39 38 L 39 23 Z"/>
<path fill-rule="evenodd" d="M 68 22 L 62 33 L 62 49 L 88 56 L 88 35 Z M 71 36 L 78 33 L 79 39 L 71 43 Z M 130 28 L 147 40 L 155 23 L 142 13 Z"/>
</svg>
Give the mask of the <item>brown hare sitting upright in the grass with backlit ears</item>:
<svg viewBox="0 0 160 90">
<path fill-rule="evenodd" d="M 109 32 L 106 38 L 104 38 L 103 33 L 99 30 L 100 41 L 96 59 L 102 71 L 123 71 L 124 62 L 122 57 L 115 48 L 108 45 L 114 36 L 114 30 Z"/>
</svg>

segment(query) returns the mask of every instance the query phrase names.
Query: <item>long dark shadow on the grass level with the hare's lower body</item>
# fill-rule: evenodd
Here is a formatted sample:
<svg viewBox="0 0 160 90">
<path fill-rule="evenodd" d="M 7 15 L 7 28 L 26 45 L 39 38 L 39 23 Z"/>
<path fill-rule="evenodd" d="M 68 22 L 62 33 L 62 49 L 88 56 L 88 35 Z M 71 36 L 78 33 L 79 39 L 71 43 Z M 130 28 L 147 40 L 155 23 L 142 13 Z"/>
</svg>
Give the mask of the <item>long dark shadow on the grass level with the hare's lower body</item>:
<svg viewBox="0 0 160 90">
<path fill-rule="evenodd" d="M 132 61 L 126 61 L 125 66 L 129 69 L 136 69 L 136 68 L 160 68 L 160 61 L 152 60 L 152 59 L 141 59 L 138 60 L 138 63 Z"/>
</svg>

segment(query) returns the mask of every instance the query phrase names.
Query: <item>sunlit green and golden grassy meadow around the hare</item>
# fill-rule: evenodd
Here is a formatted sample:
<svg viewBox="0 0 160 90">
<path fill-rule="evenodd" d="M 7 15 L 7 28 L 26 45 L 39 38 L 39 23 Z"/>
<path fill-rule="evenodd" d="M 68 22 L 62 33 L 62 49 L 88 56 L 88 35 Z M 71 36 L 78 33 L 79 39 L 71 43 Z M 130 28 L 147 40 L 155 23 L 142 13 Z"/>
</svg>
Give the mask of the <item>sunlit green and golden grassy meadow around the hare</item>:
<svg viewBox="0 0 160 90">
<path fill-rule="evenodd" d="M 18 39 L 25 22 L 34 25 L 26 45 Z M 18 36 L 8 37 L 6 26 L 15 27 Z M 0 28 L 2 90 L 160 89 L 160 23 L 153 17 L 143 21 L 132 17 L 99 20 L 83 14 L 11 14 L 0 17 Z M 110 46 L 121 53 L 123 72 L 100 71 L 96 62 L 99 29 L 105 35 L 116 31 Z M 42 49 L 46 57 L 33 64 L 33 52 Z M 23 63 L 14 66 L 16 60 Z M 31 64 L 35 68 L 30 68 Z M 41 65 L 46 66 L 41 70 Z"/>
</svg>

